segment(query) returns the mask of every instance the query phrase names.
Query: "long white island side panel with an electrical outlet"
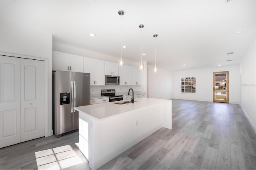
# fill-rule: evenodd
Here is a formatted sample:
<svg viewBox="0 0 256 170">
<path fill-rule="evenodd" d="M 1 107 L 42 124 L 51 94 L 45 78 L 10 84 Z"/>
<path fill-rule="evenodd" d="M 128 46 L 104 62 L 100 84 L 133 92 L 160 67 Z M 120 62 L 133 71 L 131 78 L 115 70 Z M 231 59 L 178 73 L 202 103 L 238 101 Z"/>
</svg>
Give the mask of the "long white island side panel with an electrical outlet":
<svg viewBox="0 0 256 170">
<path fill-rule="evenodd" d="M 93 168 L 99 168 L 160 129 L 163 121 L 162 111 L 162 104 L 157 104 L 95 121 Z"/>
</svg>

